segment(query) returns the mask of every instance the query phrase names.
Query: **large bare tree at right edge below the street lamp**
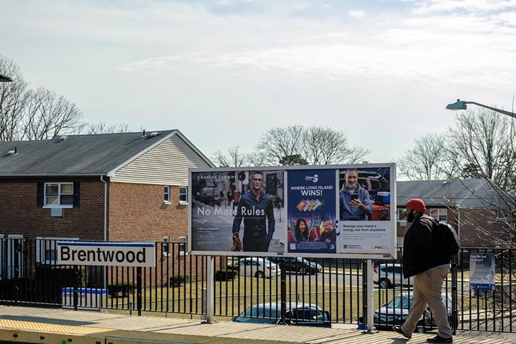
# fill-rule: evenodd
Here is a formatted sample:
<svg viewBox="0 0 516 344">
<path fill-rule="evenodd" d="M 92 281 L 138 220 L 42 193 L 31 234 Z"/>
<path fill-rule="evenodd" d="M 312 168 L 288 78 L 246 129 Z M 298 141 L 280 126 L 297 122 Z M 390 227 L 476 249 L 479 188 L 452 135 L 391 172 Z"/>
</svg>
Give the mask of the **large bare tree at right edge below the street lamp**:
<svg viewBox="0 0 516 344">
<path fill-rule="evenodd" d="M 489 109 L 457 117 L 447 136 L 448 166 L 458 178 L 486 178 L 505 191 L 516 188 L 516 120 Z"/>
</svg>

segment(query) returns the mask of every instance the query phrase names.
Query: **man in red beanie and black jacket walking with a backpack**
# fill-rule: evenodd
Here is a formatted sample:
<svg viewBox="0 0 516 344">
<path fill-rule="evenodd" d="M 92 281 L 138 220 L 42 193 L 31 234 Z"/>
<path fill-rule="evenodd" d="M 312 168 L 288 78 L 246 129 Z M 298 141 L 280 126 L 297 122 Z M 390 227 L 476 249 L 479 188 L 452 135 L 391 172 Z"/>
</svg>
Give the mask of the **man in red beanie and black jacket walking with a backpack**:
<svg viewBox="0 0 516 344">
<path fill-rule="evenodd" d="M 451 257 L 432 242 L 436 221 L 424 212 L 424 202 L 413 198 L 407 202 L 407 222 L 412 222 L 403 241 L 403 276 L 413 279 L 413 304 L 405 323 L 393 330 L 411 338 L 416 324 L 427 304 L 438 327 L 438 335 L 428 338 L 429 343 L 453 343 L 447 308 L 441 297 L 442 285 L 450 271 Z"/>
</svg>

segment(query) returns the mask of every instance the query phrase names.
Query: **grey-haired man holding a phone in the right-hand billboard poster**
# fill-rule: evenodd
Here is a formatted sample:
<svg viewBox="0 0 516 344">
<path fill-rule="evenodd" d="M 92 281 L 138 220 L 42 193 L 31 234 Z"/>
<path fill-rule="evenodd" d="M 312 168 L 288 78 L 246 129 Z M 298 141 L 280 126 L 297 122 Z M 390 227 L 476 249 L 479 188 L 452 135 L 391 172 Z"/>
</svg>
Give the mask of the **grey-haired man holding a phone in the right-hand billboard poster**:
<svg viewBox="0 0 516 344">
<path fill-rule="evenodd" d="M 358 184 L 358 170 L 347 169 L 339 193 L 341 221 L 367 221 L 373 212 L 369 192 Z"/>
</svg>

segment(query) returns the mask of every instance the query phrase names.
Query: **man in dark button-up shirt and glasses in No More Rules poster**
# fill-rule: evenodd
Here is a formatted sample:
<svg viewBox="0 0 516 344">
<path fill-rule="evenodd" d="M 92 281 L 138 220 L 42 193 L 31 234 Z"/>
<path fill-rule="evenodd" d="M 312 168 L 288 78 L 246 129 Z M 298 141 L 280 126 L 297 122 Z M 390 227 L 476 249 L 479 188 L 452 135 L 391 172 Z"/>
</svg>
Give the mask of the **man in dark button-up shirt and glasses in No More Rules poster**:
<svg viewBox="0 0 516 344">
<path fill-rule="evenodd" d="M 264 173 L 252 173 L 252 187 L 239 200 L 233 219 L 233 242 L 239 242 L 240 224 L 244 219 L 242 248 L 247 252 L 267 252 L 275 231 L 274 204 L 264 190 Z M 239 245 L 233 246 L 240 250 Z"/>
</svg>

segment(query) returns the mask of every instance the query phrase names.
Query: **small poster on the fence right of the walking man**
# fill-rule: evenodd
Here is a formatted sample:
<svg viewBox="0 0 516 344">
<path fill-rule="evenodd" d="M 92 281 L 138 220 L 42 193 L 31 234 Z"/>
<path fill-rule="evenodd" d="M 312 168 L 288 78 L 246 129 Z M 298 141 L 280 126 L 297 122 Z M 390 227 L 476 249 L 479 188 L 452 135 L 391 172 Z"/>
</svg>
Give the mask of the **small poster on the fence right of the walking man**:
<svg viewBox="0 0 516 344">
<path fill-rule="evenodd" d="M 469 255 L 469 288 L 495 290 L 495 254 L 471 253 Z"/>
</svg>

